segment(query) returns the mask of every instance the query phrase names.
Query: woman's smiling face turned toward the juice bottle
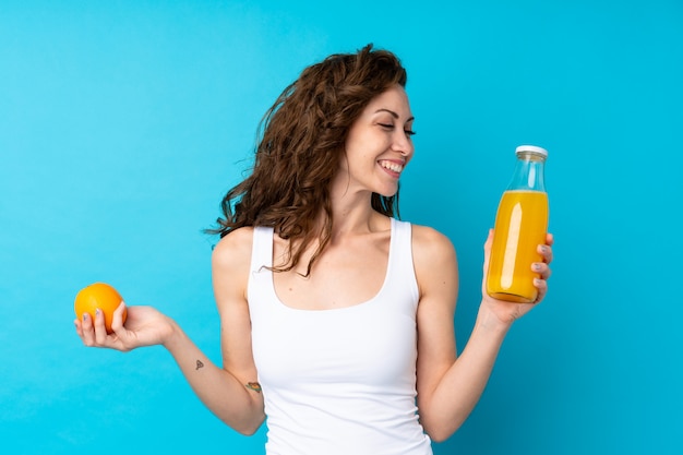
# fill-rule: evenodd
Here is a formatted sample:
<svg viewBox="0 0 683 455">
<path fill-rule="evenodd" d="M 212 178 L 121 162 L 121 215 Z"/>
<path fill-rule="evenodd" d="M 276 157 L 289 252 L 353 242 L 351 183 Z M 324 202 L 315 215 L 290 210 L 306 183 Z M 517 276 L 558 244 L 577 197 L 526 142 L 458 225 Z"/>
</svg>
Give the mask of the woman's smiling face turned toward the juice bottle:
<svg viewBox="0 0 683 455">
<path fill-rule="evenodd" d="M 406 91 L 394 85 L 372 99 L 351 124 L 337 180 L 346 191 L 392 196 L 412 158 L 412 113 Z"/>
</svg>

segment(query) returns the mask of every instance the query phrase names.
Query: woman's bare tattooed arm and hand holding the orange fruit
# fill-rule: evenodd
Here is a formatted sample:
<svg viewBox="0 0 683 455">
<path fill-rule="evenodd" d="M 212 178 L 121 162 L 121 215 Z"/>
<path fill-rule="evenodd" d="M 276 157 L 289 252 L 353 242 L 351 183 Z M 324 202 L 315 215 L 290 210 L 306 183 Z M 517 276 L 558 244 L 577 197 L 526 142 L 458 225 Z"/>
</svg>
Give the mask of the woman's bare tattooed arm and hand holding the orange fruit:
<svg viewBox="0 0 683 455">
<path fill-rule="evenodd" d="M 113 315 L 113 334 L 107 335 L 101 314 L 97 314 L 95 321 L 87 316 L 76 320 L 76 333 L 86 346 L 122 351 L 149 345 L 165 346 L 204 405 L 229 427 L 253 434 L 265 417 L 257 387 L 247 386 L 256 381 L 245 298 L 251 238 L 250 229 L 235 231 L 218 242 L 212 258 L 221 324 L 223 368 L 214 364 L 175 321 L 151 307 L 128 308 L 123 325 L 122 303 Z"/>
</svg>

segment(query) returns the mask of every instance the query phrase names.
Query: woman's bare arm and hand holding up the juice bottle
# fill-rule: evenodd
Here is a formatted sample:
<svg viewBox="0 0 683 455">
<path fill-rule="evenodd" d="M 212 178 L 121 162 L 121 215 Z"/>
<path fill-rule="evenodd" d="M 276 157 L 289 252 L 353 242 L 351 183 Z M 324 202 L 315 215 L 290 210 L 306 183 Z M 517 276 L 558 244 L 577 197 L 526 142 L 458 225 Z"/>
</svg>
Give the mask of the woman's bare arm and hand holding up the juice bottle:
<svg viewBox="0 0 683 455">
<path fill-rule="evenodd" d="M 552 238 L 549 237 L 549 242 Z M 491 235 L 484 246 L 484 280 Z M 543 253 L 550 262 L 549 247 Z M 418 228 L 414 258 L 420 287 L 418 307 L 418 407 L 421 422 L 434 441 L 450 438 L 470 415 L 493 370 L 503 339 L 516 318 L 532 304 L 502 302 L 483 292 L 470 338 L 456 359 L 453 318 L 458 290 L 455 250 L 441 234 Z M 550 270 L 541 266 L 547 278 Z M 546 294 L 546 282 L 537 285 Z"/>
</svg>

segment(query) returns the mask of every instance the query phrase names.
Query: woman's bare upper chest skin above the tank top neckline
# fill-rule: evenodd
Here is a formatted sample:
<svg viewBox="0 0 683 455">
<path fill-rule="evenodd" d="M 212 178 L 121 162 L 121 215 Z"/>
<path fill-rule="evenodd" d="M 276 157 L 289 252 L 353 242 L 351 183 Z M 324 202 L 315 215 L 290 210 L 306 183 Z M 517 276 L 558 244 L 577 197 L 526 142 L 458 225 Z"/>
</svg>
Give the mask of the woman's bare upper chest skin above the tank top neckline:
<svg viewBox="0 0 683 455">
<path fill-rule="evenodd" d="M 331 242 L 303 277 L 314 247 L 296 270 L 274 273 L 275 291 L 287 307 L 332 310 L 363 303 L 378 295 L 386 277 L 391 230 L 344 236 Z M 287 242 L 276 237 L 274 264 L 286 258 Z"/>
</svg>

